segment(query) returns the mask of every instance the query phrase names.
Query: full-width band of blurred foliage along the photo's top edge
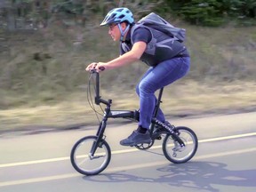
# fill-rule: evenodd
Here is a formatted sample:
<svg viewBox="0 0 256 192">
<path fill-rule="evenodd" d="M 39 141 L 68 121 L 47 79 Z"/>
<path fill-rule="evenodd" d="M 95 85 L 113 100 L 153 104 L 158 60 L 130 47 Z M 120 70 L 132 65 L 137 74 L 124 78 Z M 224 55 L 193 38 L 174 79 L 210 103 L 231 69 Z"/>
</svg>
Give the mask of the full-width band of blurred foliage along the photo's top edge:
<svg viewBox="0 0 256 192">
<path fill-rule="evenodd" d="M 0 28 L 16 25 L 17 19 L 23 20 L 21 26 L 26 28 L 30 21 L 38 25 L 48 25 L 52 20 L 73 18 L 76 24 L 85 25 L 86 20 L 105 15 L 116 6 L 132 9 L 135 18 L 150 11 L 169 14 L 188 21 L 193 25 L 218 27 L 232 21 L 238 25 L 256 25 L 255 0 L 5 0 L 0 4 Z M 4 18 L 5 24 L 4 23 Z M 13 24 L 14 23 L 14 24 Z M 66 22 L 68 23 L 68 22 Z M 69 23 L 70 24 L 70 23 Z M 20 27 L 20 28 L 21 28 Z M 28 28 L 28 27 L 27 27 Z"/>
</svg>

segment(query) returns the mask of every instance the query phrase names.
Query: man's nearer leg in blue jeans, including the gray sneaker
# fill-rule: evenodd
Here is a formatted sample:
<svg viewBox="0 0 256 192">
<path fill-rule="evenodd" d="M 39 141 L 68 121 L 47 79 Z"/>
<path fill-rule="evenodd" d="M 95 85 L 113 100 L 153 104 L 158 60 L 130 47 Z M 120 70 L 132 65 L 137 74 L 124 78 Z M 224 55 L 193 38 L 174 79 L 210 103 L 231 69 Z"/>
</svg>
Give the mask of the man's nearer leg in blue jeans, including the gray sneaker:
<svg viewBox="0 0 256 192">
<path fill-rule="evenodd" d="M 189 70 L 189 62 L 189 58 L 166 60 L 158 64 L 156 68 L 150 68 L 145 76 L 143 76 L 138 87 L 140 95 L 140 129 L 139 132 L 132 132 L 132 135 L 127 139 L 121 140 L 121 145 L 131 146 L 149 142 L 150 136 L 146 131 L 149 128 L 149 124 L 151 124 L 151 118 L 156 106 L 156 96 L 154 93 L 156 90 L 172 84 L 177 79 L 185 76 Z"/>
</svg>

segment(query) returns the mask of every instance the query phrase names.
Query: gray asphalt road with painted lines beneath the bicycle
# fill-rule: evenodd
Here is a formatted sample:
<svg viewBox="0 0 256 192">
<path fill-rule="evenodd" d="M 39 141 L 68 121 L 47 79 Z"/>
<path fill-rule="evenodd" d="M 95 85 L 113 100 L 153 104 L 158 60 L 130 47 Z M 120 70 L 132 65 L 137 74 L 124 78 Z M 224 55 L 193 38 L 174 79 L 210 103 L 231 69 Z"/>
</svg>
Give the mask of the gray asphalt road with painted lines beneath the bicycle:
<svg viewBox="0 0 256 192">
<path fill-rule="evenodd" d="M 96 176 L 76 172 L 69 154 L 76 140 L 95 134 L 95 128 L 40 134 L 7 133 L 0 137 L 1 192 L 69 191 L 256 191 L 256 113 L 176 119 L 198 137 L 196 156 L 186 164 L 172 164 L 161 141 L 140 151 L 119 140 L 136 124 L 109 127 L 112 150 L 108 168 Z"/>
</svg>

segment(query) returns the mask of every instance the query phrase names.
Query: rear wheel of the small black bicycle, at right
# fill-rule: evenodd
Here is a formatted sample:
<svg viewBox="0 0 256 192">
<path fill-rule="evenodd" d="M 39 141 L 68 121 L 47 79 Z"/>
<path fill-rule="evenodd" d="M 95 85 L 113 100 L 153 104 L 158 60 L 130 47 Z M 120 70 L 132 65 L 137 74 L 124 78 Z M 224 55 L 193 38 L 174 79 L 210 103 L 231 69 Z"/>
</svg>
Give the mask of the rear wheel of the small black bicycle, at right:
<svg viewBox="0 0 256 192">
<path fill-rule="evenodd" d="M 171 134 L 167 134 L 163 141 L 164 156 L 174 164 L 186 163 L 196 154 L 198 147 L 196 133 L 184 126 L 176 127 L 175 132 L 185 146 L 180 146 Z"/>
</svg>

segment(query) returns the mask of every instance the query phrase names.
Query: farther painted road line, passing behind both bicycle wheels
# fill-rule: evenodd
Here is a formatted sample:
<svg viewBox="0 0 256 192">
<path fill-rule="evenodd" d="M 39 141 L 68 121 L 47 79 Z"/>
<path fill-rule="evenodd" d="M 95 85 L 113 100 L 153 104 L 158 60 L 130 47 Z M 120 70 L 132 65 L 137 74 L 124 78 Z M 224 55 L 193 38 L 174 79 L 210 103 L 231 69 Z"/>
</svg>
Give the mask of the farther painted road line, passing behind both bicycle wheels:
<svg viewBox="0 0 256 192">
<path fill-rule="evenodd" d="M 212 142 L 212 141 L 217 141 L 217 140 L 231 140 L 231 139 L 251 137 L 251 136 L 256 136 L 256 132 L 238 134 L 238 135 L 232 135 L 232 136 L 226 136 L 226 137 L 219 137 L 219 138 L 212 138 L 212 139 L 206 139 L 206 140 L 198 140 L 198 142 L 199 143 L 204 143 L 204 142 Z M 151 149 L 156 149 L 156 148 L 162 148 L 162 146 L 161 145 L 160 146 L 153 146 Z M 114 154 L 124 154 L 124 153 L 132 153 L 132 152 L 135 152 L 135 151 L 140 151 L 140 150 L 137 149 L 137 148 L 116 150 L 116 151 L 111 151 L 111 154 L 112 155 L 114 155 Z M 17 163 L 12 163 L 12 164 L 0 164 L 0 168 L 20 166 L 20 165 L 28 165 L 28 164 L 44 164 L 44 163 L 66 161 L 66 160 L 69 160 L 69 156 L 51 158 L 51 159 L 35 160 L 35 161 L 27 161 L 27 162 L 17 162 Z"/>
</svg>

